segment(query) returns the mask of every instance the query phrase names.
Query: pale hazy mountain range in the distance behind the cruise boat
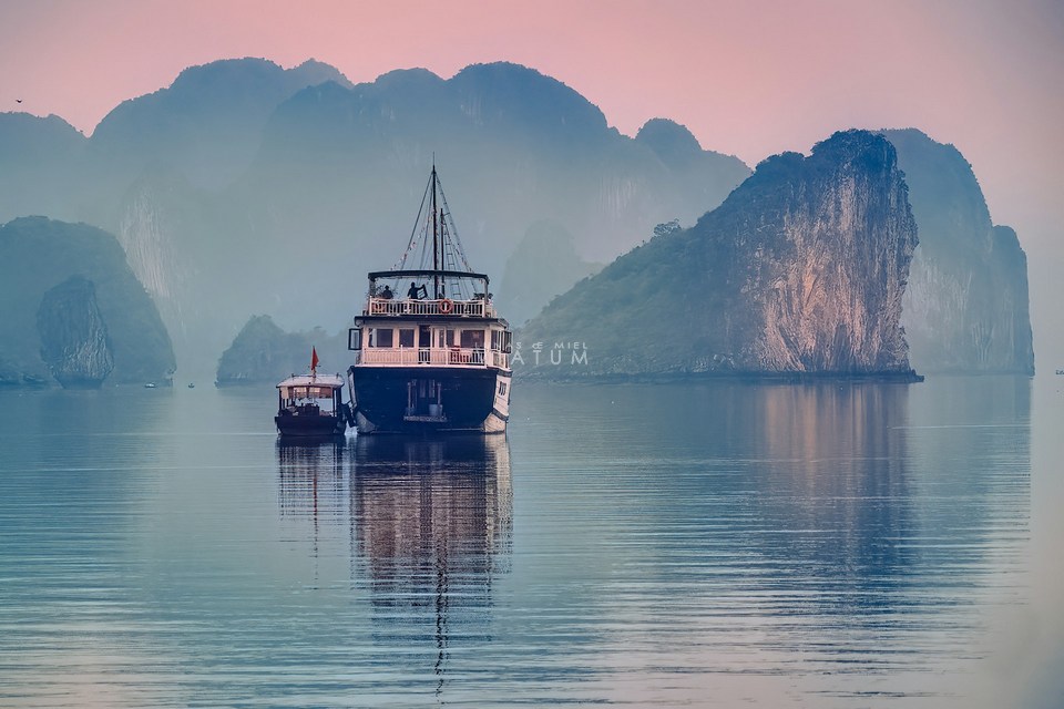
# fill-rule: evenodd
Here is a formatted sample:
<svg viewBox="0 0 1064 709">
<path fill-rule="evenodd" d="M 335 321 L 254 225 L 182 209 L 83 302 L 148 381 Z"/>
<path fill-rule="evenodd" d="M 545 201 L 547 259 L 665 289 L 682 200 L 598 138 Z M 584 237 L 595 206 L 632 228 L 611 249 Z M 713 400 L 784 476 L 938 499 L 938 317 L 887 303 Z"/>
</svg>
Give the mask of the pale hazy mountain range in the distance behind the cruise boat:
<svg viewBox="0 0 1064 709">
<path fill-rule="evenodd" d="M 516 64 L 352 85 L 316 62 L 243 59 L 182 72 L 88 138 L 54 116 L 0 114 L 0 222 L 44 214 L 115 233 L 187 364 L 216 357 L 253 312 L 342 327 L 362 275 L 401 255 L 433 154 L 471 265 L 495 276 L 502 307 L 498 277 L 532 225 L 573 236 L 577 274 L 658 223 L 694 222 L 749 174 L 669 121 L 621 135 L 579 93 Z"/>
</svg>

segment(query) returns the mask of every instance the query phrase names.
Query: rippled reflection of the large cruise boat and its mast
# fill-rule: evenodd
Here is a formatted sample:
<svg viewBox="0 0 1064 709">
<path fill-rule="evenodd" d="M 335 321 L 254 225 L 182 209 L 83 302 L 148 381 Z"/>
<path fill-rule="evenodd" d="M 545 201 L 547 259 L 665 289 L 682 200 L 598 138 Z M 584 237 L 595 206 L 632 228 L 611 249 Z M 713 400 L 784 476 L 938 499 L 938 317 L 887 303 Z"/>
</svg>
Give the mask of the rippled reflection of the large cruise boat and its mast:
<svg viewBox="0 0 1064 709">
<path fill-rule="evenodd" d="M 431 662 L 440 692 L 451 650 L 490 640 L 492 586 L 510 571 L 505 436 L 359 436 L 355 453 L 358 552 L 372 588 L 375 644 Z"/>
</svg>

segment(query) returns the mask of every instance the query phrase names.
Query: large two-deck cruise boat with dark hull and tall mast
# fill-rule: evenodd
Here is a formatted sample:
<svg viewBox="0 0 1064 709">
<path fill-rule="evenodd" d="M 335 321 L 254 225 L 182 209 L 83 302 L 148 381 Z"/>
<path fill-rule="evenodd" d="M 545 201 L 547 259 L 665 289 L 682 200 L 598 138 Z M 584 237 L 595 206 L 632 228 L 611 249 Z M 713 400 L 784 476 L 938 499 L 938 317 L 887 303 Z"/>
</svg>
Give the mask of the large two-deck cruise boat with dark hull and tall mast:
<svg viewBox="0 0 1064 709">
<path fill-rule="evenodd" d="M 360 434 L 507 430 L 511 332 L 488 285 L 469 267 L 433 165 L 406 251 L 369 274 L 348 331 Z"/>
</svg>

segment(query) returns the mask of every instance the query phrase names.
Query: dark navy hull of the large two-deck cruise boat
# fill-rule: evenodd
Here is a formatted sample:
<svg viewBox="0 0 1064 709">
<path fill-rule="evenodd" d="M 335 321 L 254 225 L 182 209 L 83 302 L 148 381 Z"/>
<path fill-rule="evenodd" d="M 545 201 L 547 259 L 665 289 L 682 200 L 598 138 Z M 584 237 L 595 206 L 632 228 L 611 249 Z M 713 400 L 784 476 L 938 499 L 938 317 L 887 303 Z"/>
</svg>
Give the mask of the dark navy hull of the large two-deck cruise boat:
<svg viewBox="0 0 1064 709">
<path fill-rule="evenodd" d="M 484 431 L 489 417 L 505 427 L 505 412 L 493 413 L 498 369 L 356 366 L 349 373 L 359 433 Z M 417 395 L 429 382 L 439 387 L 438 410 Z"/>
</svg>

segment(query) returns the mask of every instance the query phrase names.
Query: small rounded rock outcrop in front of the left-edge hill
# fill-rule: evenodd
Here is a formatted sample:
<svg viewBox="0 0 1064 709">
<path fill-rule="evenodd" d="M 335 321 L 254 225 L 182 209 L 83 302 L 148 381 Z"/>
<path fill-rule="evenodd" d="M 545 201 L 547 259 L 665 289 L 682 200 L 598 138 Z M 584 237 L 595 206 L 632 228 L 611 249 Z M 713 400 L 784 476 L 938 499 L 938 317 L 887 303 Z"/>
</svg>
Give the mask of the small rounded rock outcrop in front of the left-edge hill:
<svg viewBox="0 0 1064 709">
<path fill-rule="evenodd" d="M 96 287 L 71 276 L 41 298 L 37 310 L 41 359 L 64 389 L 96 388 L 114 369 Z"/>
</svg>

